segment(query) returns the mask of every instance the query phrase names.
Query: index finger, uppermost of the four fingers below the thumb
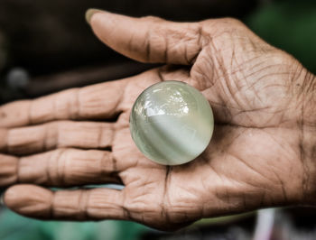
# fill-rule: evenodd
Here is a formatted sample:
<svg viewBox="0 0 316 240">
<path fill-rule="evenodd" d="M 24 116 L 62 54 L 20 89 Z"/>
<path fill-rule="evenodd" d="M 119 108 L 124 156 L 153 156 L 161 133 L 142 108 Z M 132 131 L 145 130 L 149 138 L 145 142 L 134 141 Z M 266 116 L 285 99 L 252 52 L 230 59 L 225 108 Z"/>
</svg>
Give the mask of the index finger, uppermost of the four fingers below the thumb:
<svg viewBox="0 0 316 240">
<path fill-rule="evenodd" d="M 128 78 L 73 88 L 34 100 L 0 106 L 0 127 L 35 125 L 53 120 L 106 119 L 117 115 Z"/>
</svg>

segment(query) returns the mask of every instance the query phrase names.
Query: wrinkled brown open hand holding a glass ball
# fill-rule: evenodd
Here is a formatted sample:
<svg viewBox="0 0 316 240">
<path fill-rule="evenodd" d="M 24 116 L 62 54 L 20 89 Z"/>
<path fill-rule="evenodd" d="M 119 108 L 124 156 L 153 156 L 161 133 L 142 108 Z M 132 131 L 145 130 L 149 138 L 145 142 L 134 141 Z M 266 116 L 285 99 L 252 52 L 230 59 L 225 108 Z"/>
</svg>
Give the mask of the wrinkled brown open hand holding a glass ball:
<svg viewBox="0 0 316 240">
<path fill-rule="evenodd" d="M 315 200 L 316 80 L 297 60 L 234 19 L 171 23 L 97 12 L 90 23 L 112 49 L 168 65 L 1 106 L 0 184 L 22 184 L 5 192 L 8 208 L 172 230 L 201 217 Z M 200 89 L 214 111 L 209 147 L 181 166 L 147 160 L 129 133 L 135 98 L 163 80 Z M 43 188 L 108 182 L 125 189 Z"/>
</svg>

